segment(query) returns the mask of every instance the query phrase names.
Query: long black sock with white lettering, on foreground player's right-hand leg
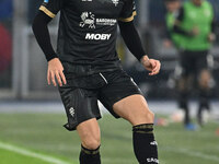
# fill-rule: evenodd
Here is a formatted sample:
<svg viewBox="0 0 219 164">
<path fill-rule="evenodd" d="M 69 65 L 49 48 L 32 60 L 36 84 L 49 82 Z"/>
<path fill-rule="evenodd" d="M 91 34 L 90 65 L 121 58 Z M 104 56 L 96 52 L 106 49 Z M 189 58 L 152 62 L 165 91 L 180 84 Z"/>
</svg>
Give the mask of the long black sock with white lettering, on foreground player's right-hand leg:
<svg viewBox="0 0 219 164">
<path fill-rule="evenodd" d="M 132 127 L 134 151 L 139 164 L 158 164 L 158 144 L 153 136 L 153 124 Z"/>
</svg>

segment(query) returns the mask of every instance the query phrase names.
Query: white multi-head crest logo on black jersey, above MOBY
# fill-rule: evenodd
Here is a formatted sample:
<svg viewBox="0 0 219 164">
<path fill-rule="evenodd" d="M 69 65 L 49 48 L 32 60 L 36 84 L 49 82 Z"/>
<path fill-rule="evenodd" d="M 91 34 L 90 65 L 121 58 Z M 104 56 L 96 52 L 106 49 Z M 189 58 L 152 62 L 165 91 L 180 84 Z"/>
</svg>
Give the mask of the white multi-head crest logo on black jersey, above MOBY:
<svg viewBox="0 0 219 164">
<path fill-rule="evenodd" d="M 80 26 L 89 25 L 89 28 L 95 28 L 95 15 L 92 12 L 82 12 Z"/>
</svg>

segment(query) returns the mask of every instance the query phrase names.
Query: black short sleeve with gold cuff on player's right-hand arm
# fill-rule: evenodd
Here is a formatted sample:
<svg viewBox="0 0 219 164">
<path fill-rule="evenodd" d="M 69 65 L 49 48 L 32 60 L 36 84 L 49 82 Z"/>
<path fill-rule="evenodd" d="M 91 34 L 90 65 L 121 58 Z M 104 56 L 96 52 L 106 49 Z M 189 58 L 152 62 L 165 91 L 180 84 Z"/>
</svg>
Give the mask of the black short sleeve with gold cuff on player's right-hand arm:
<svg viewBox="0 0 219 164">
<path fill-rule="evenodd" d="M 118 21 L 130 22 L 135 15 L 137 15 L 135 1 L 125 0 Z"/>
</svg>

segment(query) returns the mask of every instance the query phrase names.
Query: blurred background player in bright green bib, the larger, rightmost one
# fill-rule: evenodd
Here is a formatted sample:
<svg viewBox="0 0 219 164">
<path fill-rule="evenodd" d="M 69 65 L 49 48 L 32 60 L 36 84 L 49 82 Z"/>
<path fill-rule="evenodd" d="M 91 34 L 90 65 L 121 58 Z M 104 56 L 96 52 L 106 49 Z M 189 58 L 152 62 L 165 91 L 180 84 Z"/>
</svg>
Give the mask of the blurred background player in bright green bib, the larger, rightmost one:
<svg viewBox="0 0 219 164">
<path fill-rule="evenodd" d="M 183 68 L 180 89 L 180 107 L 185 110 L 185 128 L 195 130 L 191 124 L 187 99 L 191 89 L 197 86 L 199 95 L 198 122 L 203 125 L 203 110 L 209 110 L 209 82 L 211 73 L 207 56 L 214 35 L 214 10 L 206 0 L 189 0 L 184 2 L 175 21 L 173 32 L 180 34 L 181 56 Z"/>
</svg>

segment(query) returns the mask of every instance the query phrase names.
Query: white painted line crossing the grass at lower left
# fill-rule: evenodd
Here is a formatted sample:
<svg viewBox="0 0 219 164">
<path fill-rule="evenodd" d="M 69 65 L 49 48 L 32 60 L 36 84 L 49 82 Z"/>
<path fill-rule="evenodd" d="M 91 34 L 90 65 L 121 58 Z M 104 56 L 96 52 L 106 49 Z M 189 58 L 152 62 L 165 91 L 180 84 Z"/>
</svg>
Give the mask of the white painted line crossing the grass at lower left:
<svg viewBox="0 0 219 164">
<path fill-rule="evenodd" d="M 23 148 L 19 148 L 19 147 L 12 145 L 12 144 L 3 143 L 3 142 L 0 142 L 0 148 L 3 149 L 3 150 L 8 150 L 8 151 L 11 151 L 11 152 L 21 154 L 21 155 L 31 156 L 31 157 L 34 157 L 34 159 L 39 159 L 42 161 L 45 161 L 45 162 L 48 162 L 48 163 L 51 163 L 51 164 L 70 164 L 68 162 L 64 162 L 64 161 L 56 159 L 56 157 L 53 157 L 53 156 L 35 153 L 35 152 L 32 152 L 30 150 L 25 150 Z"/>
</svg>

